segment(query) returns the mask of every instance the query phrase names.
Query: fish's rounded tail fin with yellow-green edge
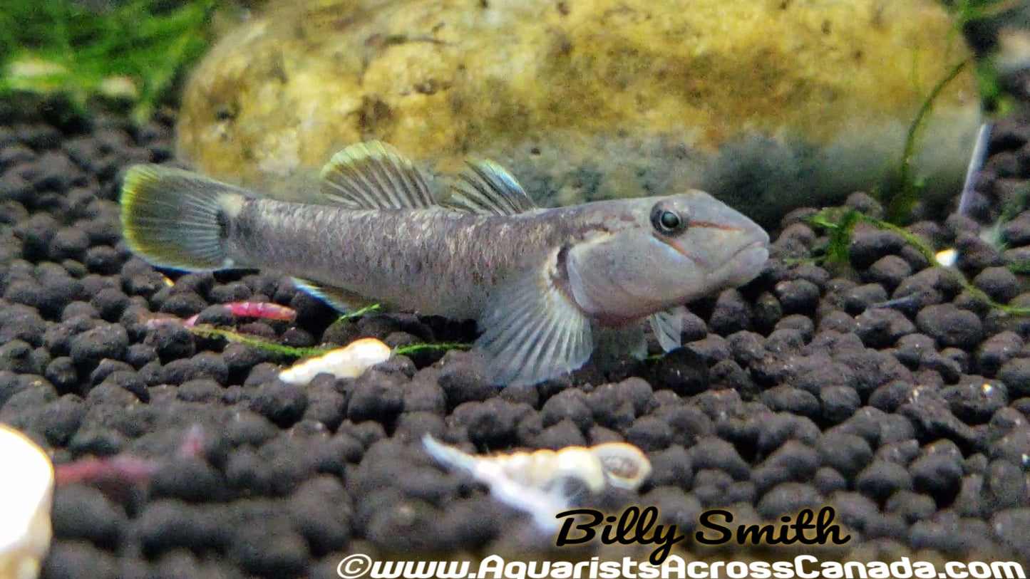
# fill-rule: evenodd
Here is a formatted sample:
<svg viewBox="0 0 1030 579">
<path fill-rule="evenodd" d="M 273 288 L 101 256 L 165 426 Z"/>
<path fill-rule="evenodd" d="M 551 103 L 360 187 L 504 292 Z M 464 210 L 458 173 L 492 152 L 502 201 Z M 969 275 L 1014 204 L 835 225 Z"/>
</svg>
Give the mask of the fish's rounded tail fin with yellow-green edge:
<svg viewBox="0 0 1030 579">
<path fill-rule="evenodd" d="M 154 265 L 231 267 L 231 225 L 247 196 L 188 171 L 137 165 L 122 185 L 122 229 L 129 247 Z"/>
</svg>

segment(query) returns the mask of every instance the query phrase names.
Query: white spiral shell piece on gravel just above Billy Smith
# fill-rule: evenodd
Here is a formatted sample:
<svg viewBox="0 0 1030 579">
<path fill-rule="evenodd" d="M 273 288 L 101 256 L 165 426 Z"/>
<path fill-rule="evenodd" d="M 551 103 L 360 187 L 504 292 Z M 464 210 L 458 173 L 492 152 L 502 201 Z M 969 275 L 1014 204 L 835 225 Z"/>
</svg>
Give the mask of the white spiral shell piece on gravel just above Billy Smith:
<svg viewBox="0 0 1030 579">
<path fill-rule="evenodd" d="M 485 482 L 499 501 L 529 513 L 546 532 L 557 529 L 554 515 L 569 508 L 573 497 L 565 483 L 570 480 L 578 480 L 591 493 L 606 486 L 636 491 L 651 474 L 644 453 L 624 442 L 486 457 L 442 444 L 427 434 L 422 444 L 437 462 Z"/>
</svg>

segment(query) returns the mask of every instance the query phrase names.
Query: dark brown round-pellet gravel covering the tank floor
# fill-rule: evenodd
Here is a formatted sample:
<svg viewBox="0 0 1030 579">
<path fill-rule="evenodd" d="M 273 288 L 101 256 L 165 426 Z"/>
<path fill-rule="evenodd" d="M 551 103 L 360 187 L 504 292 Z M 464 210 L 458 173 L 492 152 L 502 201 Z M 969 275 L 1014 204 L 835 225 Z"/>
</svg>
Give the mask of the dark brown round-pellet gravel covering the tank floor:
<svg viewBox="0 0 1030 579">
<path fill-rule="evenodd" d="M 171 120 L 0 113 L 0 421 L 56 463 L 160 463 L 146 485 L 57 491 L 46 577 L 332 577 L 349 552 L 546 551 L 525 517 L 436 467 L 426 432 L 480 450 L 624 439 L 654 474 L 639 498 L 598 500 L 656 505 L 681 532 L 707 508 L 754 521 L 829 504 L 870 558 L 1030 563 L 1030 322 L 977 302 L 895 233 L 860 227 L 856 269 L 788 266 L 824 241 L 801 219 L 811 212 L 788 216 L 759 279 L 692 305 L 685 349 L 615 374 L 497 391 L 454 352 L 300 388 L 275 379 L 285 360 L 142 320 L 203 313 L 295 346 L 469 340 L 472 328 L 376 316 L 325 332 L 329 309 L 266 275 L 169 287 L 126 250 L 115 198 L 125 167 L 170 158 Z M 1028 183 L 1028 137 L 1027 124 L 1000 128 L 977 217 Z M 865 195 L 849 203 L 880 212 Z M 912 230 L 961 248 L 995 299 L 1030 304 L 1005 267 L 1030 256 L 1030 213 L 1004 228 L 1005 251 L 980 227 L 953 216 Z M 299 322 L 211 307 L 240 299 L 288 304 Z M 191 436 L 202 449 L 182 458 Z"/>
</svg>

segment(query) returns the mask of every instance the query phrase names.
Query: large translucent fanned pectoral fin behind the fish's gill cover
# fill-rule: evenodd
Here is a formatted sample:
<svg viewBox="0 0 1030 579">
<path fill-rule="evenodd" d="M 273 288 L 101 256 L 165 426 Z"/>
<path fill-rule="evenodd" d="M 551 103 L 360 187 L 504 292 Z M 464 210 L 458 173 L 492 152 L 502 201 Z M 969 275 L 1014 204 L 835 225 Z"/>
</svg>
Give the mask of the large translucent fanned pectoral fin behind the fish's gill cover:
<svg viewBox="0 0 1030 579">
<path fill-rule="evenodd" d="M 533 385 L 582 366 L 593 350 L 590 322 L 551 282 L 548 266 L 503 286 L 479 320 L 476 350 L 493 384 Z"/>
</svg>

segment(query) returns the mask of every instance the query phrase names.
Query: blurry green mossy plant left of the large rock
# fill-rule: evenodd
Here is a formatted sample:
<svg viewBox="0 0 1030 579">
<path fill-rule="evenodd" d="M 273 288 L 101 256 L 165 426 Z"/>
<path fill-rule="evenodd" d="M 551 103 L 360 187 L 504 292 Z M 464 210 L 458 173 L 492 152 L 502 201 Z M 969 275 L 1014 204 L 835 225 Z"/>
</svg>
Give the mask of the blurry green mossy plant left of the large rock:
<svg viewBox="0 0 1030 579">
<path fill-rule="evenodd" d="M 131 100 L 138 120 L 166 99 L 210 42 L 215 0 L 8 0 L 0 10 L 0 95 Z M 114 88 L 119 86 L 121 88 Z"/>
</svg>

